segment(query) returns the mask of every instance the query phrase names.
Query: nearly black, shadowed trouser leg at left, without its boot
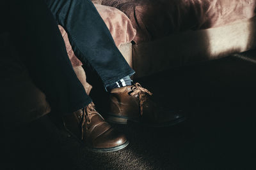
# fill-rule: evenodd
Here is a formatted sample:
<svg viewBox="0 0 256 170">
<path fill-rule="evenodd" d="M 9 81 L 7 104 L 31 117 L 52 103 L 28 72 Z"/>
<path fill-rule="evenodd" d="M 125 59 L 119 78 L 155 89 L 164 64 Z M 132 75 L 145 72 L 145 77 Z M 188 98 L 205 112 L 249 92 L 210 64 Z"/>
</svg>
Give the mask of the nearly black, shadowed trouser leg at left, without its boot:
<svg viewBox="0 0 256 170">
<path fill-rule="evenodd" d="M 42 0 L 11 1 L 10 32 L 29 74 L 51 104 L 67 114 L 92 100 L 86 95 L 68 59 L 65 43 Z"/>
</svg>

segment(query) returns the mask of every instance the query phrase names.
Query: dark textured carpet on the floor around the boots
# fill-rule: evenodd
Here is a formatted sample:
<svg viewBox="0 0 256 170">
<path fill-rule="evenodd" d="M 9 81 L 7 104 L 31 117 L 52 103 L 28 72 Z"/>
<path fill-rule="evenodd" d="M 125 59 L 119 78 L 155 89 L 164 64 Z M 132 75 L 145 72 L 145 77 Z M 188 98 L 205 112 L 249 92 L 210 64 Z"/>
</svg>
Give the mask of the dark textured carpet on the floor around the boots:
<svg viewBox="0 0 256 170">
<path fill-rule="evenodd" d="M 124 150 L 93 153 L 42 117 L 3 134 L 3 169 L 256 169 L 256 51 L 179 67 L 140 81 L 186 121 L 113 125 Z"/>
</svg>

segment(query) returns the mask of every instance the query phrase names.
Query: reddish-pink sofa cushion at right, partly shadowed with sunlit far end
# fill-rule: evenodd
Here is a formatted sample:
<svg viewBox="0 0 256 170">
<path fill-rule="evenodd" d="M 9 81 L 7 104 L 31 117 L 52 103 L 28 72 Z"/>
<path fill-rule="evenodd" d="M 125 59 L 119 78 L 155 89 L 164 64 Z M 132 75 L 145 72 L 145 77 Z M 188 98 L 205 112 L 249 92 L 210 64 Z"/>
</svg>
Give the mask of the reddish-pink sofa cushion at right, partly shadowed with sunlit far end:
<svg viewBox="0 0 256 170">
<path fill-rule="evenodd" d="M 102 0 L 127 15 L 135 43 L 152 41 L 188 29 L 207 29 L 252 18 L 255 0 Z"/>
</svg>

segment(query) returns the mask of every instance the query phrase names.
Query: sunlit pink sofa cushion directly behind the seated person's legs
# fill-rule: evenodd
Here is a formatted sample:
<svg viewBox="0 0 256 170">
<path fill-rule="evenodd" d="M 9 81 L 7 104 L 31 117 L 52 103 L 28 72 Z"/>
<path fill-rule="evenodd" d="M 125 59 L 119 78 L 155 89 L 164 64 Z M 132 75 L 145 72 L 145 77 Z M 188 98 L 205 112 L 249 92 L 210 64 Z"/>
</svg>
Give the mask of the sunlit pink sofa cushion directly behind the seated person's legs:
<svg viewBox="0 0 256 170">
<path fill-rule="evenodd" d="M 122 11 L 110 6 L 103 6 L 100 4 L 95 4 L 95 7 L 99 12 L 100 17 L 102 17 L 105 24 L 107 25 L 116 46 L 120 46 L 122 43 L 128 43 L 132 41 L 136 35 L 136 30 L 132 27 L 129 18 Z M 81 66 L 81 61 L 77 59 L 72 50 L 72 46 L 68 41 L 67 32 L 63 29 L 63 27 L 61 27 L 61 25 L 59 25 L 59 28 L 65 41 L 68 57 L 72 62 L 72 66 Z"/>
</svg>

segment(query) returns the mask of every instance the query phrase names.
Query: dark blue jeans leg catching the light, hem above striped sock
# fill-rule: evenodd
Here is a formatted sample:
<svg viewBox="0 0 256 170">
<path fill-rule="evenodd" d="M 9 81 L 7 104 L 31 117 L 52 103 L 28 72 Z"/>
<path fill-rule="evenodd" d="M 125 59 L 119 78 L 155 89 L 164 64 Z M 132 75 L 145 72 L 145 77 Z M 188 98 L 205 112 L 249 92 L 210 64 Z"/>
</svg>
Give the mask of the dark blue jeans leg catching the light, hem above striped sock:
<svg viewBox="0 0 256 170">
<path fill-rule="evenodd" d="M 90 0 L 45 2 L 58 24 L 67 31 L 76 56 L 99 75 L 104 87 L 134 73 Z"/>
</svg>

